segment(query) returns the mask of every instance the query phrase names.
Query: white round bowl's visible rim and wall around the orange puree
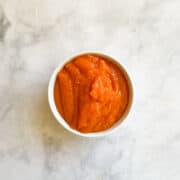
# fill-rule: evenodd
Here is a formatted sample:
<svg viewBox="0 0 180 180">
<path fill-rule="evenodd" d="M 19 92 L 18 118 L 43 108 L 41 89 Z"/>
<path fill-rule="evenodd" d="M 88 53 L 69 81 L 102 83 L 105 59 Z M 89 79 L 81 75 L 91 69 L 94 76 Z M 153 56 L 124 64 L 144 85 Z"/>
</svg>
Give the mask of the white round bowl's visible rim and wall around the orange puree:
<svg viewBox="0 0 180 180">
<path fill-rule="evenodd" d="M 58 72 L 64 67 L 64 65 L 71 61 L 72 59 L 80 56 L 80 55 L 84 55 L 84 54 L 94 54 L 94 55 L 98 55 L 98 56 L 101 56 L 101 57 L 104 57 L 110 61 L 113 61 L 119 68 L 120 70 L 123 72 L 126 80 L 127 80 L 127 83 L 128 83 L 128 87 L 129 87 L 129 102 L 128 102 L 128 105 L 127 105 L 127 108 L 123 114 L 123 116 L 121 116 L 121 118 L 109 129 L 107 130 L 103 130 L 103 131 L 99 131 L 99 132 L 92 132 L 92 133 L 82 133 L 82 132 L 79 132 L 78 130 L 75 130 L 73 128 L 71 128 L 69 126 L 69 124 L 63 119 L 63 117 L 61 116 L 61 114 L 58 112 L 57 108 L 56 108 L 56 104 L 55 104 L 55 100 L 54 100 L 54 85 L 55 85 L 55 81 L 56 81 L 56 77 L 57 77 L 57 74 Z M 73 133 L 73 134 L 76 134 L 76 135 L 79 135 L 79 136 L 83 136 L 83 137 L 102 137 L 102 136 L 106 136 L 106 135 L 109 135 L 111 134 L 112 132 L 114 132 L 115 130 L 117 130 L 120 126 L 120 124 L 124 121 L 124 119 L 127 117 L 127 115 L 129 114 L 129 111 L 131 109 L 131 106 L 132 106 L 132 102 L 133 102 L 133 87 L 132 87 L 132 82 L 130 80 L 130 77 L 128 75 L 128 73 L 126 72 L 126 70 L 123 68 L 123 66 L 118 62 L 116 61 L 115 59 L 107 56 L 107 55 L 104 55 L 104 54 L 101 54 L 101 53 L 83 53 L 83 54 L 78 54 L 72 58 L 70 58 L 68 61 L 65 61 L 64 63 L 61 62 L 60 65 L 54 70 L 51 78 L 50 78 L 50 81 L 49 81 L 49 87 L 48 87 L 48 101 L 49 101 L 49 105 L 50 105 L 50 108 L 51 108 L 51 111 L 54 115 L 54 117 L 57 119 L 57 121 L 66 129 L 68 130 L 69 132 Z"/>
</svg>

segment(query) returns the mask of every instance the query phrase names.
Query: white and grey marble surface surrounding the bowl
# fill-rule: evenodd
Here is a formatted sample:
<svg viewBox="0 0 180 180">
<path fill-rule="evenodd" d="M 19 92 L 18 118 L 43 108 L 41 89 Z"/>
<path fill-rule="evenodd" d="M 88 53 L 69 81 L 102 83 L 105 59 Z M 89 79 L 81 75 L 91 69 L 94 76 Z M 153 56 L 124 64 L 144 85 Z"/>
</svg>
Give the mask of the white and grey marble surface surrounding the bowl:
<svg viewBox="0 0 180 180">
<path fill-rule="evenodd" d="M 0 179 L 180 179 L 179 0 L 0 0 Z M 60 61 L 96 51 L 134 84 L 120 129 L 86 139 L 47 102 Z"/>
</svg>

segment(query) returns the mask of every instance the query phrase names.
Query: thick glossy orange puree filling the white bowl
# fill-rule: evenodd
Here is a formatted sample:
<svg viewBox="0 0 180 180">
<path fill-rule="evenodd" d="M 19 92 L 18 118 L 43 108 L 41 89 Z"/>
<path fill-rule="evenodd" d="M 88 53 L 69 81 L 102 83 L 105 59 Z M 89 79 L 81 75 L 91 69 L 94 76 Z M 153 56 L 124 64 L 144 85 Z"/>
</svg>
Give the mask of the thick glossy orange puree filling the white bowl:
<svg viewBox="0 0 180 180">
<path fill-rule="evenodd" d="M 62 117 L 83 132 L 106 130 L 126 110 L 128 83 L 117 64 L 97 54 L 84 54 L 65 64 L 57 75 L 54 99 Z"/>
</svg>

